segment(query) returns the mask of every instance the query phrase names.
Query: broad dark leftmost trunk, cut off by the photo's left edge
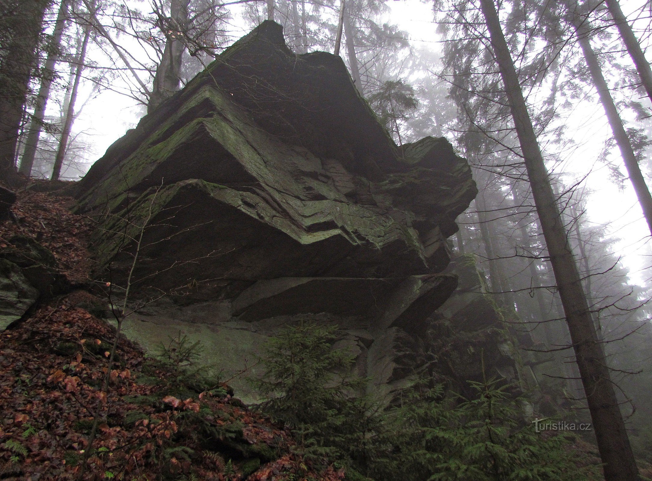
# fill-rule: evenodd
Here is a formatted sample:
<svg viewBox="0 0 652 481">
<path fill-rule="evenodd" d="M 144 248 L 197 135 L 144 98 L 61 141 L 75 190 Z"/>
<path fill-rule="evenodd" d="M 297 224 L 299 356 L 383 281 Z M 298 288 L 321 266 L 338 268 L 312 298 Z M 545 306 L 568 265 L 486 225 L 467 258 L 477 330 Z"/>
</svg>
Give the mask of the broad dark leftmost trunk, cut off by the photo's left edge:
<svg viewBox="0 0 652 481">
<path fill-rule="evenodd" d="M 29 79 L 36 64 L 38 37 L 47 0 L 26 1 L 20 8 L 24 31 L 2 46 L 3 72 L 10 78 L 0 87 L 0 171 L 15 174 L 16 147 L 23 119 Z M 19 13 L 16 13 L 18 16 Z"/>
</svg>

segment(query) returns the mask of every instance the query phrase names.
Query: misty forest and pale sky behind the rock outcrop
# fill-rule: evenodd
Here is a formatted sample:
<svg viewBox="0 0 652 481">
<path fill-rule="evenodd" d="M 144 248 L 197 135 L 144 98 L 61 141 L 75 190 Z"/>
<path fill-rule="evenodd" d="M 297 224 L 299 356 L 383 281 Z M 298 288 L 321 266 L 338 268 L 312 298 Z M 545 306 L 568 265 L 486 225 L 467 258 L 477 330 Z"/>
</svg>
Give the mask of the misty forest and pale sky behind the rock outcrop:
<svg viewBox="0 0 652 481">
<path fill-rule="evenodd" d="M 35 45 L 37 62 L 27 72 L 27 102 L 13 160 L 23 175 L 55 180 L 78 179 L 102 154 L 94 130 L 100 125 L 91 128 L 85 119 L 116 95 L 127 98 L 125 106 L 137 107 L 125 107 L 126 119 L 115 119 L 108 130 L 132 126 L 134 114 L 155 108 L 242 31 L 263 20 L 284 26 L 295 53 L 333 52 L 343 11 L 339 54 L 394 141 L 402 145 L 445 136 L 472 166 L 479 194 L 458 218 L 453 254 L 475 258 L 486 291 L 516 330 L 559 349 L 569 346 L 481 2 L 428 3 L 432 16 L 421 20 L 437 32 L 439 42 L 426 48 L 392 22 L 392 11 L 422 11 L 416 1 L 40 3 L 44 22 Z M 0 8 L 15 5 L 0 1 Z M 645 51 L 652 36 L 652 3 L 623 1 L 621 7 Z M 0 36 L 6 37 L 0 45 L 33 27 L 29 8 L 22 20 L 6 13 L 0 11 Z M 636 228 L 626 229 L 627 238 L 620 237 L 617 223 L 596 222 L 600 212 L 591 205 L 591 199 L 614 187 L 629 192 L 634 164 L 643 186 L 651 182 L 652 110 L 644 76 L 604 3 L 505 0 L 498 14 L 634 450 L 652 461 L 649 231 L 638 204 L 612 205 L 616 218 L 634 219 L 630 224 Z M 20 62 L 3 61 L 0 78 L 7 88 L 12 84 L 5 80 L 15 79 Z M 637 194 L 640 188 L 639 183 Z M 554 354 L 565 365 L 567 396 L 582 398 L 572 349 Z"/>
</svg>

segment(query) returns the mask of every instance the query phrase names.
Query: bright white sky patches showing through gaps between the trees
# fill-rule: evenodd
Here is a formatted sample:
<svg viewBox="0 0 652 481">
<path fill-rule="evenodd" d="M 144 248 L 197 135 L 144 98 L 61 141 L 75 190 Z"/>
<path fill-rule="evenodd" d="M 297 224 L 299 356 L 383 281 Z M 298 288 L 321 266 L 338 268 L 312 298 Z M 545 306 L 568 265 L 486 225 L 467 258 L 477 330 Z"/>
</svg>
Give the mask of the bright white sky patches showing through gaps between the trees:
<svg viewBox="0 0 652 481">
<path fill-rule="evenodd" d="M 633 10 L 634 5 L 634 2 L 629 2 L 624 9 L 630 6 Z M 431 4 L 419 0 L 394 0 L 389 2 L 389 7 L 388 19 L 409 33 L 415 48 L 439 48 Z M 237 13 L 234 12 L 234 16 Z M 233 28 L 234 36 L 239 36 L 245 33 L 246 26 L 234 18 Z M 134 100 L 112 91 L 104 91 L 89 102 L 75 125 L 75 130 L 84 129 L 90 134 L 93 149 L 89 151 L 88 160 L 92 162 L 102 156 L 113 141 L 135 126 L 142 113 L 143 108 L 136 106 Z M 569 173 L 569 183 L 573 177 L 587 175 L 587 190 L 592 191 L 589 194 L 589 219 L 609 226 L 614 237 L 621 239 L 617 248 L 630 269 L 632 281 L 636 284 L 647 282 L 652 277 L 652 272 L 644 269 L 651 263 L 651 242 L 634 192 L 629 181 L 625 181 L 622 191 L 619 190 L 609 180 L 608 169 L 595 162 L 604 139 L 610 136 L 599 104 L 578 109 L 569 119 L 569 126 L 574 130 L 572 137 L 576 148 L 566 154 L 561 167 Z M 615 160 L 619 161 L 618 158 Z"/>
</svg>

